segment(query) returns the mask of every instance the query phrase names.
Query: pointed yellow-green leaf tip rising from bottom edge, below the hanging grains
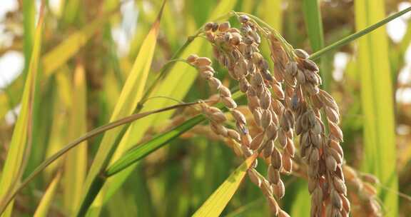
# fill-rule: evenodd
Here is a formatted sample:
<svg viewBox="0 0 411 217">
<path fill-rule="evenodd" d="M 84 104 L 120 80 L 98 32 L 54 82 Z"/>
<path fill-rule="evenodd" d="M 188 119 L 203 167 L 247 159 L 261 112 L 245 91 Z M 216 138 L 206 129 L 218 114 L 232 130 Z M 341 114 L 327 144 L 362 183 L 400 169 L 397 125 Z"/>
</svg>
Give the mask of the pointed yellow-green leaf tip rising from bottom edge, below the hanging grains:
<svg viewBox="0 0 411 217">
<path fill-rule="evenodd" d="M 198 208 L 195 217 L 217 217 L 223 212 L 225 206 L 233 197 L 235 191 L 240 186 L 241 181 L 247 173 L 248 168 L 253 164 L 257 154 L 250 156 L 244 161 L 230 176 L 214 191 L 214 193 Z"/>
</svg>

